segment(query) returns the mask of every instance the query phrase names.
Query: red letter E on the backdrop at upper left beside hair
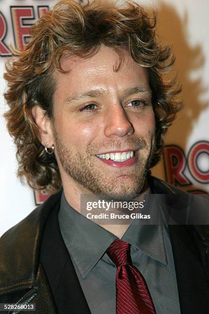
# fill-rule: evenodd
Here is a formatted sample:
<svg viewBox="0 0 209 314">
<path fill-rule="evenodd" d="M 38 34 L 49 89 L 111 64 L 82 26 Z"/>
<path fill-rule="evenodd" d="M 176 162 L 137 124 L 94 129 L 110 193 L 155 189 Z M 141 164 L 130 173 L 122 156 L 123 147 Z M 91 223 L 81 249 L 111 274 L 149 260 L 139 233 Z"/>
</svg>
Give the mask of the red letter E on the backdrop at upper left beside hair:
<svg viewBox="0 0 209 314">
<path fill-rule="evenodd" d="M 19 50 L 24 49 L 26 38 L 30 37 L 31 24 L 23 23 L 24 19 L 34 18 L 33 7 L 11 7 L 12 24 L 15 46 Z"/>
</svg>

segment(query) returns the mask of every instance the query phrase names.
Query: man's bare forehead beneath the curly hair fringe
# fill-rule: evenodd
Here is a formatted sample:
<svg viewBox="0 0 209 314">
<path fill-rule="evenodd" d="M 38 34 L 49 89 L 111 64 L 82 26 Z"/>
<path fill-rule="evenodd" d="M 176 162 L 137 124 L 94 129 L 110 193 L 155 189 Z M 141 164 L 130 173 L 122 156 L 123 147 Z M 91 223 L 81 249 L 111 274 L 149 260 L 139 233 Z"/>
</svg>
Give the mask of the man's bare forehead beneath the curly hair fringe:
<svg viewBox="0 0 209 314">
<path fill-rule="evenodd" d="M 129 52 L 121 49 L 122 62 L 116 51 L 112 48 L 101 46 L 98 52 L 89 57 L 81 58 L 67 56 L 61 61 L 61 68 L 68 73 L 54 73 L 57 87 L 60 92 L 68 93 L 89 88 L 103 89 L 108 92 L 111 89 L 127 89 L 139 86 L 149 88 L 148 70 L 137 64 Z M 119 66 L 120 65 L 120 66 Z"/>
</svg>

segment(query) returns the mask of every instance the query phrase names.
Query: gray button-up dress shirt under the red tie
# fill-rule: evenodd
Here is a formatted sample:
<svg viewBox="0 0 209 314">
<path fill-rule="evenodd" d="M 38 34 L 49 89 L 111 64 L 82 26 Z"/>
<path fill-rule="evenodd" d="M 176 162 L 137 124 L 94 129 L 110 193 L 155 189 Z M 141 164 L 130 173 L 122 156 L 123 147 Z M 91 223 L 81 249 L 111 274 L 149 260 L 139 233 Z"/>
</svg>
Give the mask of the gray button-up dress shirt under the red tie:
<svg viewBox="0 0 209 314">
<path fill-rule="evenodd" d="M 160 211 L 159 208 L 154 210 Z M 115 314 L 116 266 L 106 250 L 117 237 L 75 211 L 67 203 L 64 193 L 58 221 L 91 313 Z M 166 223 L 142 225 L 135 219 L 121 240 L 131 244 L 132 263 L 147 282 L 157 314 L 180 314 L 173 253 Z"/>
</svg>

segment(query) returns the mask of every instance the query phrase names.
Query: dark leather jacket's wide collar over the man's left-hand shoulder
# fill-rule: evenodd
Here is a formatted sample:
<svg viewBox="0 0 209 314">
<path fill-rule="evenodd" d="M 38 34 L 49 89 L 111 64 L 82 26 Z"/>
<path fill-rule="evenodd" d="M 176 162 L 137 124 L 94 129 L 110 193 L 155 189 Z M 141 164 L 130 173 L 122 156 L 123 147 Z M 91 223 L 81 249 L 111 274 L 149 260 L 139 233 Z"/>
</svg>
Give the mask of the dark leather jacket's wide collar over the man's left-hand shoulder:
<svg viewBox="0 0 209 314">
<path fill-rule="evenodd" d="M 51 211 L 60 204 L 60 193 L 52 195 L 0 239 L 0 295 L 34 281 L 39 266 L 39 251 Z"/>
</svg>

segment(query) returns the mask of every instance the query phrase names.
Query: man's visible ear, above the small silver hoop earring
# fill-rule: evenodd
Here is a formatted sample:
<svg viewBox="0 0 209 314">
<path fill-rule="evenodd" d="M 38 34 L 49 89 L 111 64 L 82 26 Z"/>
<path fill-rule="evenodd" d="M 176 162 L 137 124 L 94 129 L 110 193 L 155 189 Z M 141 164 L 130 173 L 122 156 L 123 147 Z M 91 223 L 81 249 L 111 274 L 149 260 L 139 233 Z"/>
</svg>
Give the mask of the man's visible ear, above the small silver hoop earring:
<svg viewBox="0 0 209 314">
<path fill-rule="evenodd" d="M 49 117 L 46 116 L 45 111 L 38 105 L 31 109 L 31 113 L 38 128 L 41 144 L 45 146 L 48 142 L 48 147 L 51 147 L 54 144 L 54 137 Z"/>
</svg>

